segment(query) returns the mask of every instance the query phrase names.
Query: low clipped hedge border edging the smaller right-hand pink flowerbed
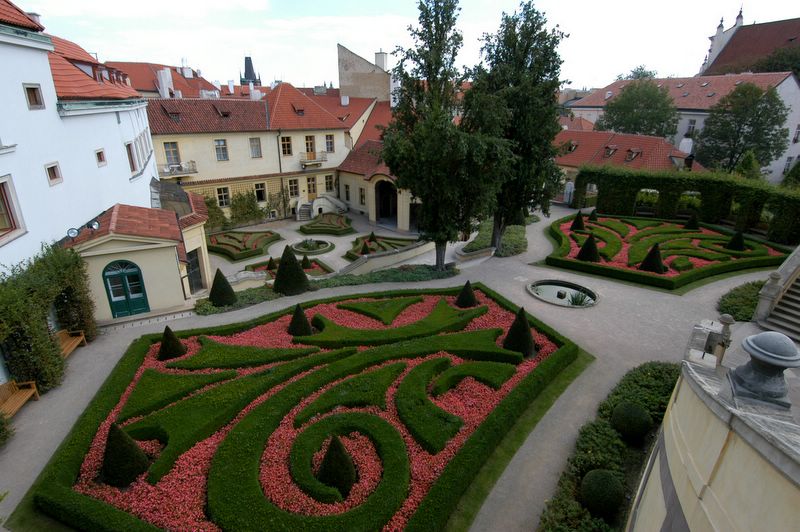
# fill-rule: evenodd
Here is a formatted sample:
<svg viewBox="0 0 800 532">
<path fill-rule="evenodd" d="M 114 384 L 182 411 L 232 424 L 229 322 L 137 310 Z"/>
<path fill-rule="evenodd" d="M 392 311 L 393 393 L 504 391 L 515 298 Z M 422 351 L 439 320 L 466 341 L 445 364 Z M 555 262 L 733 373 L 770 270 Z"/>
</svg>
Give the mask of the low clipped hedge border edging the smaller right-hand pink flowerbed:
<svg viewBox="0 0 800 532">
<path fill-rule="evenodd" d="M 561 231 L 560 225 L 569 221 L 570 218 L 571 216 L 566 216 L 550 224 L 550 235 L 555 239 L 556 243 L 558 244 L 558 247 L 553 251 L 553 253 L 551 253 L 545 259 L 545 264 L 547 264 L 548 266 L 556 266 L 558 268 L 564 268 L 567 270 L 575 270 L 584 273 L 601 275 L 603 277 L 609 277 L 611 279 L 618 279 L 621 281 L 629 281 L 633 283 L 654 286 L 657 288 L 664 288 L 666 290 L 675 290 L 676 288 L 680 288 L 695 281 L 699 281 L 701 279 L 713 277 L 715 275 L 720 275 L 723 273 L 740 271 L 740 270 L 749 270 L 753 268 L 763 268 L 767 266 L 778 266 L 782 264 L 783 261 L 786 259 L 785 256 L 768 255 L 768 256 L 753 257 L 748 259 L 729 260 L 721 262 L 719 264 L 704 266 L 703 268 L 700 269 L 690 270 L 686 273 L 680 274 L 677 277 L 663 277 L 657 274 L 650 274 L 641 271 L 625 270 L 620 268 L 614 268 L 611 266 L 605 266 L 602 264 L 582 262 L 574 259 L 565 258 L 570 251 L 570 237 L 569 235 L 566 235 Z M 627 221 L 627 220 L 637 220 L 639 218 L 627 216 L 623 217 L 623 219 Z M 648 220 L 654 222 L 674 223 L 674 220 L 661 220 L 661 219 L 653 220 L 652 218 Z M 701 227 L 706 227 L 708 229 L 712 229 L 714 231 L 718 231 L 723 234 L 733 235 L 734 233 L 734 231 L 731 231 L 730 229 L 724 227 L 719 227 L 706 223 L 701 223 L 700 225 Z M 765 243 L 761 239 L 753 237 L 748 237 L 748 238 L 756 242 Z M 785 246 L 776 244 L 770 244 L 770 245 L 785 253 L 789 252 Z"/>
</svg>

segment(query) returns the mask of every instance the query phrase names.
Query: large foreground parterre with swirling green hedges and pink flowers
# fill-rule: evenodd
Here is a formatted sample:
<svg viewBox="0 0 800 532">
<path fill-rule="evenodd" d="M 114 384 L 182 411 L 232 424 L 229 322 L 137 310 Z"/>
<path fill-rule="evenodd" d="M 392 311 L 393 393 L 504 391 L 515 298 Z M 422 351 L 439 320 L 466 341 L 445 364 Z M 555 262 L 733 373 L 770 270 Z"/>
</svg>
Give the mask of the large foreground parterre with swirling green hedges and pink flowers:
<svg viewBox="0 0 800 532">
<path fill-rule="evenodd" d="M 323 323 L 303 337 L 287 332 L 292 309 L 185 331 L 187 353 L 168 361 L 160 337 L 143 337 L 42 473 L 37 507 L 120 531 L 442 530 L 578 355 L 532 316 L 537 352 L 504 349 L 517 309 L 482 285 L 474 307 L 458 308 L 459 290 L 308 302 L 306 317 Z M 100 475 L 112 423 L 149 461 L 122 489 Z M 332 436 L 357 473 L 345 491 L 318 475 Z"/>
</svg>

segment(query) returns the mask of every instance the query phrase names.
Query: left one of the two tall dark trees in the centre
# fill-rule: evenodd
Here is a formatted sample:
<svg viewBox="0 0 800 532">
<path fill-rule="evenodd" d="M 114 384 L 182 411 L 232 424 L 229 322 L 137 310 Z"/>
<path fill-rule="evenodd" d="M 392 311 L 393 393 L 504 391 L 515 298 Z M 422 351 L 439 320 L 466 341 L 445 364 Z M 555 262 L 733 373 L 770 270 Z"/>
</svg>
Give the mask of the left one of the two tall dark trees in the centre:
<svg viewBox="0 0 800 532">
<path fill-rule="evenodd" d="M 417 225 L 422 237 L 436 244 L 440 270 L 447 243 L 491 212 L 498 184 L 487 173 L 507 156 L 498 139 L 454 121 L 466 77 L 455 66 L 462 44 L 458 11 L 456 0 L 419 2 L 419 26 L 409 27 L 414 46 L 396 51 L 400 85 L 383 137 L 382 157 L 397 186 L 421 200 Z"/>
</svg>

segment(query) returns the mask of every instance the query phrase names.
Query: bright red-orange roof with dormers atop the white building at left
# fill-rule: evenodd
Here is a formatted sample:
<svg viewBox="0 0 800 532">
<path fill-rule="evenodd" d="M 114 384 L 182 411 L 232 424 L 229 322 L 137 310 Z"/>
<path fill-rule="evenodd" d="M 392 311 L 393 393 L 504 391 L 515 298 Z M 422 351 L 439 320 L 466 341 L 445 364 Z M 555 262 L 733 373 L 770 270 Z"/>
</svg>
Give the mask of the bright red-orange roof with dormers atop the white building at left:
<svg viewBox="0 0 800 532">
<path fill-rule="evenodd" d="M 99 63 L 86 50 L 66 39 L 50 35 L 55 50 L 48 54 L 56 95 L 60 100 L 125 100 L 141 98 L 121 72 Z M 97 81 L 77 65 L 92 72 L 105 70 L 109 79 Z"/>
</svg>

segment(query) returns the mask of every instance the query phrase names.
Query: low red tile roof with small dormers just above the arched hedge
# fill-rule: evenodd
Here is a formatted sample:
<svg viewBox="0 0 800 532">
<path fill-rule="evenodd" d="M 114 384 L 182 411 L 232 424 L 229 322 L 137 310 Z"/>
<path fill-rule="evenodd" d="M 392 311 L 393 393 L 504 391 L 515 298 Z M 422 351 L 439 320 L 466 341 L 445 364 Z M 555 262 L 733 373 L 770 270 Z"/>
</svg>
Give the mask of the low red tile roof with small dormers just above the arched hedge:
<svg viewBox="0 0 800 532">
<path fill-rule="evenodd" d="M 561 155 L 556 157 L 556 164 L 574 168 L 589 164 L 642 170 L 674 170 L 675 164 L 670 157 L 684 159 L 687 156 L 661 137 L 610 131 L 562 130 L 556 135 L 553 145 L 564 148 Z M 567 149 L 570 145 L 575 146 L 573 151 Z M 698 163 L 692 169 L 704 170 Z"/>
</svg>

